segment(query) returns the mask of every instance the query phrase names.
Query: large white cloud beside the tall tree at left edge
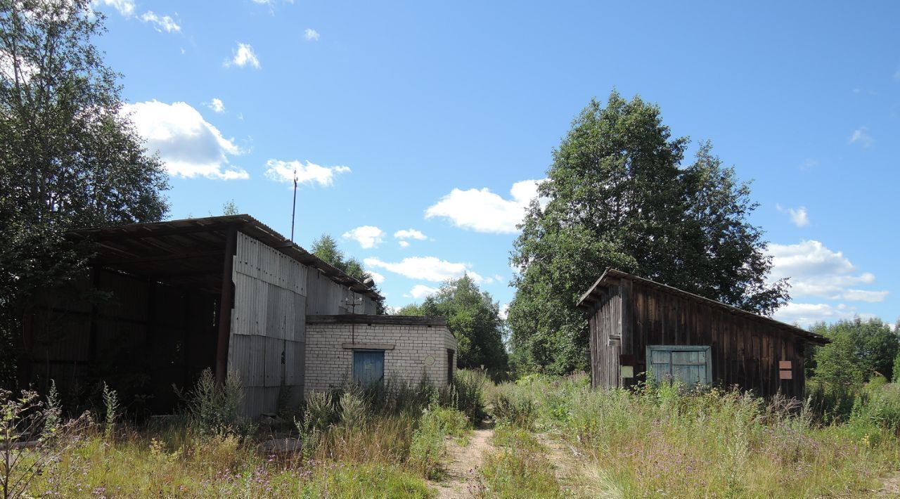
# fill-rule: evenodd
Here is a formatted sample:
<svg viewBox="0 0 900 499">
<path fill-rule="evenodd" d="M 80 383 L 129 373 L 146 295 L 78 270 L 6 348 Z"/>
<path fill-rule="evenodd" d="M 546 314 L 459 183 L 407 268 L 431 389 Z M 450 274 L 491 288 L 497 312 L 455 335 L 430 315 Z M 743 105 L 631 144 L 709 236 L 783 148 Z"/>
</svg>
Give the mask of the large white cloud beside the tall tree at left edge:
<svg viewBox="0 0 900 499">
<path fill-rule="evenodd" d="M 150 151 L 158 151 L 169 174 L 211 179 L 246 179 L 246 170 L 229 164 L 241 154 L 233 139 L 186 102 L 148 101 L 126 104 L 122 112 L 134 123 Z"/>
</svg>

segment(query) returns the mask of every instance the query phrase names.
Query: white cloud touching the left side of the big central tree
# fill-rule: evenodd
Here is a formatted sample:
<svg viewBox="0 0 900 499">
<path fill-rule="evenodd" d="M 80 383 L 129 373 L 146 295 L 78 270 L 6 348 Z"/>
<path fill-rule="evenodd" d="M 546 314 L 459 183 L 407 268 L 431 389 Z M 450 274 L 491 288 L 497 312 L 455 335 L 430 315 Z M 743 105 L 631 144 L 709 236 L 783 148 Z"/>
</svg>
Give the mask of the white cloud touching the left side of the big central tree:
<svg viewBox="0 0 900 499">
<path fill-rule="evenodd" d="M 537 196 L 541 180 L 514 183 L 511 199 L 504 199 L 490 189 L 454 189 L 425 210 L 425 218 L 446 218 L 456 227 L 476 232 L 512 234 L 525 216 L 525 209 Z"/>
</svg>

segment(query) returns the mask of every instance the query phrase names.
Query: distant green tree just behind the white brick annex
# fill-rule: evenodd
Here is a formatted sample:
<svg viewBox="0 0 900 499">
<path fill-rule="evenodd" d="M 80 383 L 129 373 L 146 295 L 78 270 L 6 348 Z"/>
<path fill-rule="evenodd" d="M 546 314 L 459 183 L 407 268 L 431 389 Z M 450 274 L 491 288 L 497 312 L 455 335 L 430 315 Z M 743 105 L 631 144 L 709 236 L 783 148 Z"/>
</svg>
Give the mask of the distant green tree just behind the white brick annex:
<svg viewBox="0 0 900 499">
<path fill-rule="evenodd" d="M 419 306 L 401 308 L 402 315 L 442 316 L 456 336 L 457 365 L 464 369 L 508 369 L 500 306 L 468 275 L 446 281 Z"/>
</svg>

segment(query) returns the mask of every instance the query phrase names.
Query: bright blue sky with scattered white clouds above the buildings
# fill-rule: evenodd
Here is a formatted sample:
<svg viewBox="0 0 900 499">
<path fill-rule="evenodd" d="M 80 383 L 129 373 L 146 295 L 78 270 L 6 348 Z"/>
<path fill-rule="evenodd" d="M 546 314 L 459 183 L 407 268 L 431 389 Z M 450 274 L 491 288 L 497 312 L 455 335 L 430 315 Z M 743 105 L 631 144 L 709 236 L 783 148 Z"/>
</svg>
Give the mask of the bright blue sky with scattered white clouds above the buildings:
<svg viewBox="0 0 900 499">
<path fill-rule="evenodd" d="M 387 304 L 471 272 L 500 304 L 521 207 L 591 97 L 657 102 L 752 180 L 802 325 L 900 316 L 900 4 L 99 0 L 96 40 L 172 174 L 172 218 L 234 200 L 323 233 Z"/>
</svg>

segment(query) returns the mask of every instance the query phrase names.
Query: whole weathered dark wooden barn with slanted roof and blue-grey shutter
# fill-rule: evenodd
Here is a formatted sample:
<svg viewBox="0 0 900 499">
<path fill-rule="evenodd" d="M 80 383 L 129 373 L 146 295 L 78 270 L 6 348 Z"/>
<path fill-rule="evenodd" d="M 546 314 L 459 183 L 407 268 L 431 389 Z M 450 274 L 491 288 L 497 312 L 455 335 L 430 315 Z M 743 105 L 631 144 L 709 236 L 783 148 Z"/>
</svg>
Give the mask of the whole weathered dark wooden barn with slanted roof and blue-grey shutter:
<svg viewBox="0 0 900 499">
<path fill-rule="evenodd" d="M 764 316 L 608 269 L 579 300 L 590 316 L 591 385 L 662 382 L 804 393 L 807 343 L 829 341 Z"/>
</svg>

